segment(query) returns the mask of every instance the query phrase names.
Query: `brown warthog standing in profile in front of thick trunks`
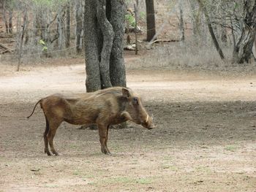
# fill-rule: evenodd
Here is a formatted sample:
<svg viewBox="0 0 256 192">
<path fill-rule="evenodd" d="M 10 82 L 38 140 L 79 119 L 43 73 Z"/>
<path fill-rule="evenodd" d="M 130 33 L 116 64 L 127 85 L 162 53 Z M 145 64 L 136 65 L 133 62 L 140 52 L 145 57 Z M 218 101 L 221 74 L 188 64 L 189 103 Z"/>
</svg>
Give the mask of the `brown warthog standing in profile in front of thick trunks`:
<svg viewBox="0 0 256 192">
<path fill-rule="evenodd" d="M 40 99 L 37 104 L 40 104 L 45 114 L 44 142 L 45 153 L 48 155 L 51 155 L 48 143 L 51 152 L 58 155 L 53 147 L 53 137 L 63 121 L 74 125 L 97 124 L 101 150 L 105 154 L 110 153 L 107 145 L 110 125 L 131 120 L 148 129 L 154 128 L 152 118 L 143 107 L 140 96 L 130 88 L 107 88 L 72 97 L 56 94 Z"/>
</svg>

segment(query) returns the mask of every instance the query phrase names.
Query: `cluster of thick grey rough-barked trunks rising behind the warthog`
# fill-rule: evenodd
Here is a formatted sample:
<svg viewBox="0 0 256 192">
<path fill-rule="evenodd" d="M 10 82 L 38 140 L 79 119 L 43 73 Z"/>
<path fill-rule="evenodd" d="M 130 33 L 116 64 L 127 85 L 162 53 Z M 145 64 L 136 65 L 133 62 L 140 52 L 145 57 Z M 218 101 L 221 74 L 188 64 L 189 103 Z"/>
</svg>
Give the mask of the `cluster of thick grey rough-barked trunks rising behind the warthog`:
<svg viewBox="0 0 256 192">
<path fill-rule="evenodd" d="M 110 86 L 126 86 L 124 0 L 85 2 L 86 88 L 96 91 Z"/>
</svg>

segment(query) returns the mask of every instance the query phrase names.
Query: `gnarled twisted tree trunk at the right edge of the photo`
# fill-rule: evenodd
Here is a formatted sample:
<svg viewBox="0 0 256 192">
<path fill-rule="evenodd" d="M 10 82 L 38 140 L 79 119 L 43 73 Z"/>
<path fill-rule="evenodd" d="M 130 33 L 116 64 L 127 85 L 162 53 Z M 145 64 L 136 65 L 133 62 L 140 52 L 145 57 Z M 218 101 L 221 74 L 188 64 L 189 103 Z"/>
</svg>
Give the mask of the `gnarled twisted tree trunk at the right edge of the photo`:
<svg viewBox="0 0 256 192">
<path fill-rule="evenodd" d="M 256 35 L 256 2 L 244 1 L 244 20 L 241 20 L 241 35 L 234 47 L 233 62 L 237 64 L 249 63 L 252 59 L 252 47 Z"/>
</svg>

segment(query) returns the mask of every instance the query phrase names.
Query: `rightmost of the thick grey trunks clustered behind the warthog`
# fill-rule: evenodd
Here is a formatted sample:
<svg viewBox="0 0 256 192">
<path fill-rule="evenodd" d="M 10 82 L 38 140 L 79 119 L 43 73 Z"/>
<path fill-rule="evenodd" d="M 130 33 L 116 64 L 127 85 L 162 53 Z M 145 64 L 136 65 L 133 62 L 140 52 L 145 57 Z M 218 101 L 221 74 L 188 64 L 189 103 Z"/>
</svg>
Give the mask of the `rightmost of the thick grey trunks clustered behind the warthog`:
<svg viewBox="0 0 256 192">
<path fill-rule="evenodd" d="M 113 26 L 115 37 L 110 57 L 110 79 L 113 86 L 127 86 L 124 65 L 124 16 L 126 13 L 124 0 L 111 1 L 110 23 Z"/>
</svg>

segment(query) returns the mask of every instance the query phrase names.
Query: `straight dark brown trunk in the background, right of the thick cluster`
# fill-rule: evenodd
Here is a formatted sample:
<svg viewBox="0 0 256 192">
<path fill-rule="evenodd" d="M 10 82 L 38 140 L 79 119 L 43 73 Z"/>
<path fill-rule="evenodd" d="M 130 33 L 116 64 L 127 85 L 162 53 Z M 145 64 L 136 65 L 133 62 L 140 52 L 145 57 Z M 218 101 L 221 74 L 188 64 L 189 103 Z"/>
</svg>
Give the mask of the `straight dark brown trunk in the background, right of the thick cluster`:
<svg viewBox="0 0 256 192">
<path fill-rule="evenodd" d="M 154 0 L 146 0 L 146 23 L 147 23 L 147 38 L 150 42 L 156 34 L 156 24 L 154 19 Z"/>
</svg>

